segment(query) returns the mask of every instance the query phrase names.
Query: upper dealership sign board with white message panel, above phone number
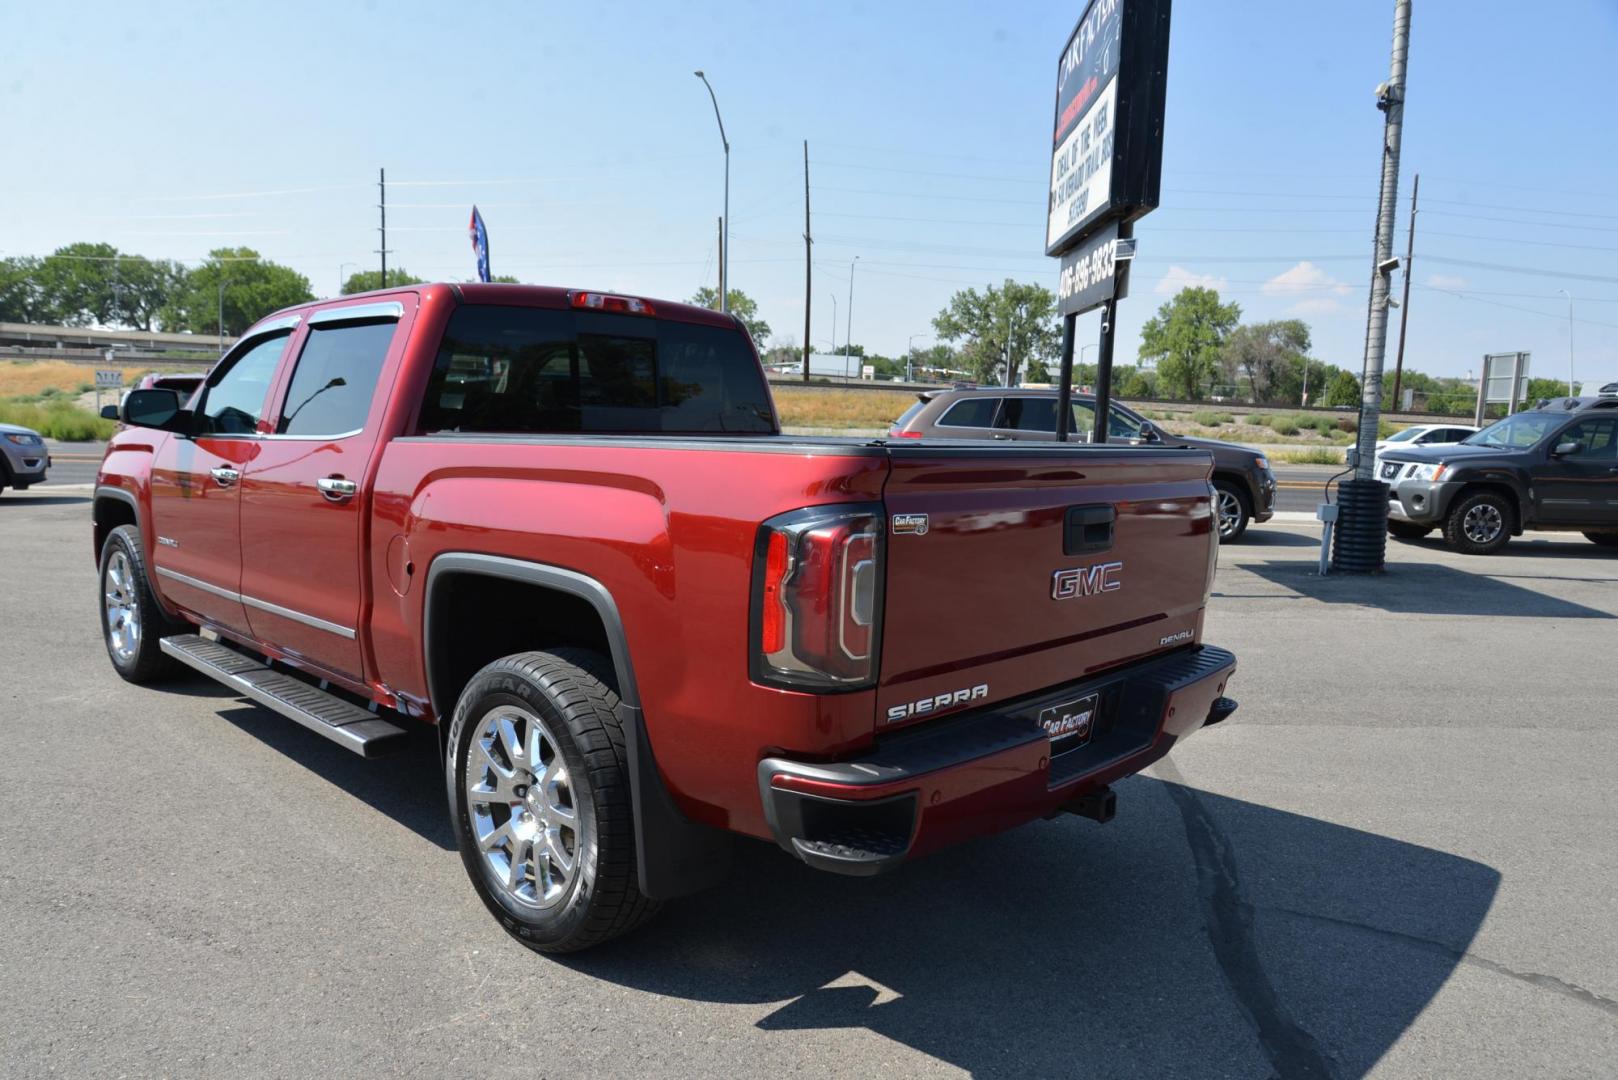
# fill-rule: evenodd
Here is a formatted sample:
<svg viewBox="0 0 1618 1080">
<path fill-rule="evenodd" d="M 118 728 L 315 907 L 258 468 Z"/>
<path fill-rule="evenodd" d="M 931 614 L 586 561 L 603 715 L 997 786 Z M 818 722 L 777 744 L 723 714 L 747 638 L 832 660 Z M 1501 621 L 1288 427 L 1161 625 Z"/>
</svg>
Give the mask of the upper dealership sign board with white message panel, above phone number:
<svg viewBox="0 0 1618 1080">
<path fill-rule="evenodd" d="M 1170 0 L 1091 0 L 1057 62 L 1045 254 L 1157 207 Z"/>
</svg>

